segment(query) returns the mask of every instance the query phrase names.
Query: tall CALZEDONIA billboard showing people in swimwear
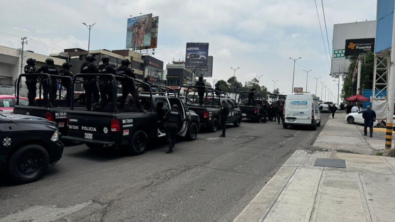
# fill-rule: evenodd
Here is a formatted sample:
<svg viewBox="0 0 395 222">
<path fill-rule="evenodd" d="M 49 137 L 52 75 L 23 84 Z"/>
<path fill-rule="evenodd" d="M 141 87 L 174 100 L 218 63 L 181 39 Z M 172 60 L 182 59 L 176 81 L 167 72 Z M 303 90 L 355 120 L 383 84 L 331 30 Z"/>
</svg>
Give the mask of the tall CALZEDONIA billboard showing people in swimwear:
<svg viewBox="0 0 395 222">
<path fill-rule="evenodd" d="M 126 48 L 151 45 L 152 13 L 127 19 Z"/>
</svg>

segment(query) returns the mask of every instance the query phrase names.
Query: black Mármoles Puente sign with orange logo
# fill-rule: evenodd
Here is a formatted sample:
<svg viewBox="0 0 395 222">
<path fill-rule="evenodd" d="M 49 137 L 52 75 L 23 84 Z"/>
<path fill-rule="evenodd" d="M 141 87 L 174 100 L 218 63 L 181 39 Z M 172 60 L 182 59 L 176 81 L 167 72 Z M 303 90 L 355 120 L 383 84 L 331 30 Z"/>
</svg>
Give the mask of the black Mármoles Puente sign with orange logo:
<svg viewBox="0 0 395 222">
<path fill-rule="evenodd" d="M 345 55 L 374 52 L 374 38 L 346 39 Z"/>
</svg>

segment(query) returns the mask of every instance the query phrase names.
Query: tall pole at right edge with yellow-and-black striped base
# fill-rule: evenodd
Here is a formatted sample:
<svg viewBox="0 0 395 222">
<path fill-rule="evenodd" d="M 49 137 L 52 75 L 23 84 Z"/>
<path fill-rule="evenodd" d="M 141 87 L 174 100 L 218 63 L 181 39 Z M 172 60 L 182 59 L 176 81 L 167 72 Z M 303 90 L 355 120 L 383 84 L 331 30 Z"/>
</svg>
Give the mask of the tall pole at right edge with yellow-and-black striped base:
<svg viewBox="0 0 395 222">
<path fill-rule="evenodd" d="M 393 2 L 394 4 L 394 2 Z M 395 7 L 395 4 L 394 4 Z M 395 13 L 394 20 L 395 21 Z M 392 30 L 392 44 L 391 44 L 391 67 L 390 76 L 388 77 L 387 97 L 388 97 L 388 110 L 387 110 L 387 130 L 386 130 L 386 146 L 385 150 L 390 150 L 392 147 L 392 127 L 394 126 L 394 102 L 395 102 L 395 23 L 393 22 Z M 394 150 L 393 150 L 394 151 Z M 394 152 L 392 153 L 394 156 Z"/>
</svg>

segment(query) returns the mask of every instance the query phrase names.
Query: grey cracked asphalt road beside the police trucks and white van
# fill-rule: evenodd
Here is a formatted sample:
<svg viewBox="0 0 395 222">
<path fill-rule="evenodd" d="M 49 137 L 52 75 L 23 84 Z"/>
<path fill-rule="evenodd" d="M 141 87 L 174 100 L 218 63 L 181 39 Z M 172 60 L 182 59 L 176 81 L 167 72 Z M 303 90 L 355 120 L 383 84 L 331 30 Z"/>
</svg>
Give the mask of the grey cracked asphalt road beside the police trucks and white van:
<svg viewBox="0 0 395 222">
<path fill-rule="evenodd" d="M 164 141 L 139 156 L 66 147 L 40 181 L 12 185 L 0 175 L 0 222 L 232 221 L 316 131 L 243 120 L 239 128 L 200 133 L 166 154 Z"/>
</svg>

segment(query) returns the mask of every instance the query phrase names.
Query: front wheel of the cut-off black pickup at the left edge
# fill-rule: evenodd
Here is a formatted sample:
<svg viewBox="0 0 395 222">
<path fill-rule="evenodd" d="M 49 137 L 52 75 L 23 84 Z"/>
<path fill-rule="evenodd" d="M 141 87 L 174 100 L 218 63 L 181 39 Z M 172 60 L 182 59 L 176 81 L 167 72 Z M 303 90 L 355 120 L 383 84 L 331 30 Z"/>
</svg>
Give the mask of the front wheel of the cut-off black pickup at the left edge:
<svg viewBox="0 0 395 222">
<path fill-rule="evenodd" d="M 30 183 L 40 179 L 48 164 L 48 152 L 40 145 L 31 144 L 17 149 L 11 155 L 7 171 L 16 183 Z"/>
</svg>

